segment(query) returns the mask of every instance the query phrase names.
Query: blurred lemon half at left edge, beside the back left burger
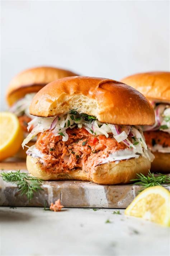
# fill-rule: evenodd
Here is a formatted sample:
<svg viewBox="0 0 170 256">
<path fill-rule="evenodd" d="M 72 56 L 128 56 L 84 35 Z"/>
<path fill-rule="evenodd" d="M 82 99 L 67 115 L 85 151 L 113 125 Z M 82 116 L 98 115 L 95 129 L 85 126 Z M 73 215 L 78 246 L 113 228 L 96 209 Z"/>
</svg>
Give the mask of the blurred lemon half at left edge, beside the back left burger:
<svg viewBox="0 0 170 256">
<path fill-rule="evenodd" d="M 21 147 L 23 131 L 15 114 L 0 112 L 0 161 L 13 156 Z"/>
</svg>

